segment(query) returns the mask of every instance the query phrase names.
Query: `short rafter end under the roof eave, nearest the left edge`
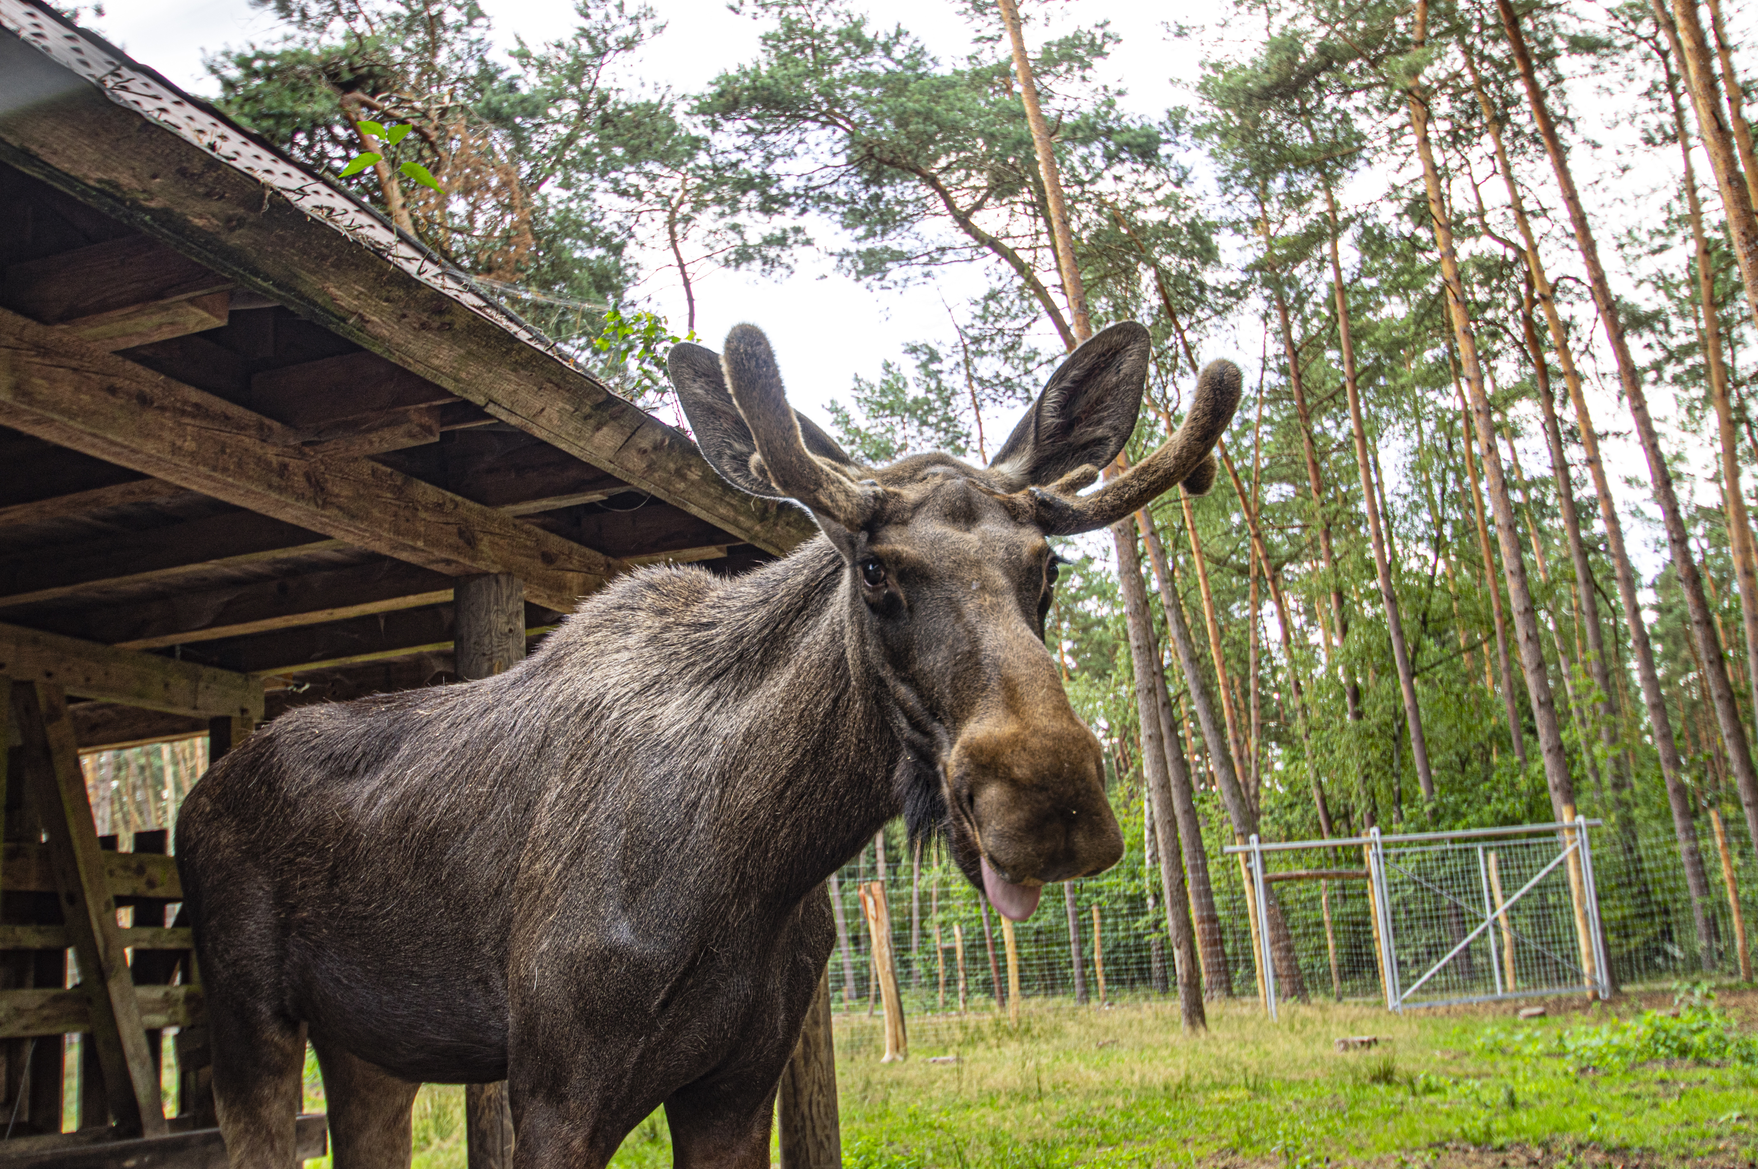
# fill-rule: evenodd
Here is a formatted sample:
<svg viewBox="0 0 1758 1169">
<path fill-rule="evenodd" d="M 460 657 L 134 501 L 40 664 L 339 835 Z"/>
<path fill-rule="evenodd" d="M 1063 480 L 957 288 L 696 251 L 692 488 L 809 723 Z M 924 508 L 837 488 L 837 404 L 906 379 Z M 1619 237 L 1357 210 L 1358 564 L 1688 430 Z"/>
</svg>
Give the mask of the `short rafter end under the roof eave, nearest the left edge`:
<svg viewBox="0 0 1758 1169">
<path fill-rule="evenodd" d="M 130 236 L 7 267 L 0 304 L 114 352 L 218 329 L 230 288 L 181 251 Z"/>
</svg>

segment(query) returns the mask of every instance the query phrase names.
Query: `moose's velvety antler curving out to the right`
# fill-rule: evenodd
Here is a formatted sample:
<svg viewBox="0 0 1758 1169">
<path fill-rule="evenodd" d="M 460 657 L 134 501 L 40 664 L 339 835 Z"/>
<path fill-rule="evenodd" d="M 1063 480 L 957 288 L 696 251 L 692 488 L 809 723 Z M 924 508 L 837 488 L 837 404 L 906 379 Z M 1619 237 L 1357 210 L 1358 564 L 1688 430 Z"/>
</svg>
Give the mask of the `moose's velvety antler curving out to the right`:
<svg viewBox="0 0 1758 1169">
<path fill-rule="evenodd" d="M 1239 367 L 1229 360 L 1210 362 L 1197 378 L 1197 392 L 1183 424 L 1159 450 L 1090 496 L 1076 492 L 1093 482 L 1092 468 L 1071 471 L 1050 487 L 1032 487 L 1037 522 L 1051 536 L 1072 536 L 1139 512 L 1176 483 L 1201 496 L 1215 483 L 1210 450 L 1238 408 Z"/>
</svg>

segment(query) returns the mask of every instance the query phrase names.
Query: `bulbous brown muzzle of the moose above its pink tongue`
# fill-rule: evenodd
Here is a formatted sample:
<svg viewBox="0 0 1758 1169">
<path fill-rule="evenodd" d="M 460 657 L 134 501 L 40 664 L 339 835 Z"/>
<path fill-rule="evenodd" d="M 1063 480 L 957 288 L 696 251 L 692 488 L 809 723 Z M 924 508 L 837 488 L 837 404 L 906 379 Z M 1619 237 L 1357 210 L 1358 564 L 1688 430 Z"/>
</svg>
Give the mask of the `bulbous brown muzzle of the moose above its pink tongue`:
<svg viewBox="0 0 1758 1169">
<path fill-rule="evenodd" d="M 1086 877 L 1123 856 L 1099 740 L 1072 712 L 967 728 L 948 768 L 984 858 L 1007 884 Z"/>
</svg>

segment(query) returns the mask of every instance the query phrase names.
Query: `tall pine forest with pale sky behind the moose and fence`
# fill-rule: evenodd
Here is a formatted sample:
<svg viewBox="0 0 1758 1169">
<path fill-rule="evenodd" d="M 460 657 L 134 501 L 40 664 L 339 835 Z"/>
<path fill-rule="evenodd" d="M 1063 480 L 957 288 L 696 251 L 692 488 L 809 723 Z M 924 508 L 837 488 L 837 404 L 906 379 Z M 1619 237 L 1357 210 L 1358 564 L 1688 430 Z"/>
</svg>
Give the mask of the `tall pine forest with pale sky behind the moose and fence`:
<svg viewBox="0 0 1758 1169">
<path fill-rule="evenodd" d="M 661 417 L 673 338 L 768 323 L 752 280 L 826 267 L 921 329 L 789 313 L 897 345 L 840 387 L 784 366 L 870 462 L 984 459 L 1116 320 L 1155 345 L 1132 457 L 1239 360 L 1215 490 L 1071 543 L 1050 617 L 1120 807 L 1183 860 L 1181 983 L 1178 918 L 1218 946 L 1204 830 L 1580 810 L 1665 831 L 1707 904 L 1711 814 L 1758 842 L 1744 12 L 1222 4 L 1151 32 L 1181 77 L 1130 46 L 1159 109 L 1116 84 L 1104 5 L 1027 9 L 1018 39 L 1006 7 L 962 9 L 946 54 L 747 0 L 752 51 L 666 88 L 635 4 L 506 47 L 473 4 L 276 0 L 207 90 L 334 176 L 371 123 L 411 127 L 339 181 Z"/>
</svg>

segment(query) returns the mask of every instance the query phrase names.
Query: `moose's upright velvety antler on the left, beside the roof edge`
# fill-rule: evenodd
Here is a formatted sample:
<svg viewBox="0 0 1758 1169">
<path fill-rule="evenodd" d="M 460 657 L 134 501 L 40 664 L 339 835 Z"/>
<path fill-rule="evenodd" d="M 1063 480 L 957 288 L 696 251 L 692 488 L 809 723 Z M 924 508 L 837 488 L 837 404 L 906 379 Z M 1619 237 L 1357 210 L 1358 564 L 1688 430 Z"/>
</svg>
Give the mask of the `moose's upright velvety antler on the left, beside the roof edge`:
<svg viewBox="0 0 1758 1169">
<path fill-rule="evenodd" d="M 721 371 L 763 461 L 761 468 L 752 469 L 812 512 L 851 531 L 865 526 L 884 490 L 874 482 L 856 483 L 840 468 L 807 450 L 800 422 L 781 385 L 775 352 L 763 330 L 756 325 L 733 325 L 721 353 Z"/>
</svg>

